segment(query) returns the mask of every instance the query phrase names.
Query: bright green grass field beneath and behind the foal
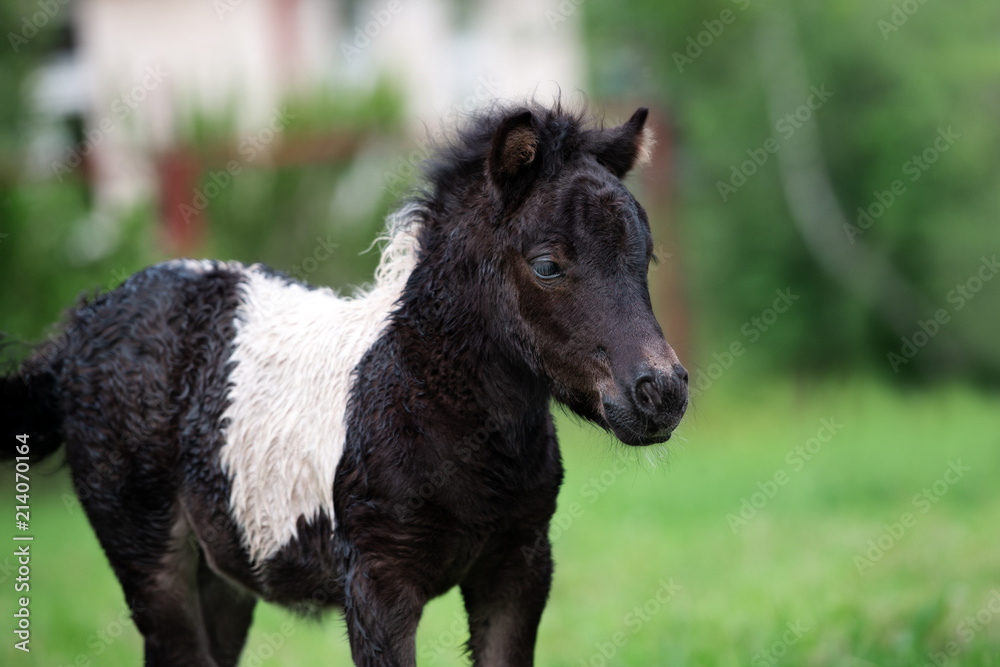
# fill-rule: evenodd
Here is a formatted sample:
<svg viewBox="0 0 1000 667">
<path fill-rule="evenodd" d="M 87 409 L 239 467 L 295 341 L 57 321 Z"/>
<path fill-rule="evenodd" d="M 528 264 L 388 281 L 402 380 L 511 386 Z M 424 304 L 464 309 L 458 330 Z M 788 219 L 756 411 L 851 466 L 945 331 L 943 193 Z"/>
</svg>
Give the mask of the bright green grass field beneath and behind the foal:
<svg viewBox="0 0 1000 667">
<path fill-rule="evenodd" d="M 947 664 L 1000 665 L 998 404 L 961 387 L 719 387 L 696 401 L 655 466 L 561 418 L 564 528 L 553 529 L 557 567 L 537 663 L 924 665 L 951 648 Z M 842 428 L 795 469 L 786 454 L 830 418 Z M 615 473 L 619 456 L 628 465 Z M 969 470 L 935 490 L 958 460 Z M 0 490 L 12 506 L 8 471 Z M 777 471 L 786 482 L 734 532 L 727 515 Z M 914 503 L 924 488 L 937 502 Z M 14 582 L 0 569 L 2 662 L 139 664 L 118 584 L 81 511 L 64 505 L 68 490 L 65 470 L 36 472 L 32 652 L 13 649 Z M 859 574 L 856 557 L 905 512 L 912 525 Z M 661 582 L 679 588 L 668 594 Z M 428 606 L 419 664 L 465 664 L 461 609 L 455 591 Z M 981 610 L 982 625 L 963 625 Z M 782 655 L 762 653 L 771 647 Z M 350 664 L 343 623 L 259 605 L 242 664 Z"/>
</svg>

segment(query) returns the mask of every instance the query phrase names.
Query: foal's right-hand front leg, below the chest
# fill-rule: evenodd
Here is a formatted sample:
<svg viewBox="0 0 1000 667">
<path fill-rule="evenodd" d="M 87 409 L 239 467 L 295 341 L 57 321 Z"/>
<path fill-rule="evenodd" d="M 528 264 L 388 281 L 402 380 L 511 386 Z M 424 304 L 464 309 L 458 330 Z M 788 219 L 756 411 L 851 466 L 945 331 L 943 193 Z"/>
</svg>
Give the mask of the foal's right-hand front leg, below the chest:
<svg viewBox="0 0 1000 667">
<path fill-rule="evenodd" d="M 544 532 L 512 536 L 476 563 L 462 582 L 462 596 L 477 666 L 534 664 L 551 584 L 552 546 Z"/>
</svg>

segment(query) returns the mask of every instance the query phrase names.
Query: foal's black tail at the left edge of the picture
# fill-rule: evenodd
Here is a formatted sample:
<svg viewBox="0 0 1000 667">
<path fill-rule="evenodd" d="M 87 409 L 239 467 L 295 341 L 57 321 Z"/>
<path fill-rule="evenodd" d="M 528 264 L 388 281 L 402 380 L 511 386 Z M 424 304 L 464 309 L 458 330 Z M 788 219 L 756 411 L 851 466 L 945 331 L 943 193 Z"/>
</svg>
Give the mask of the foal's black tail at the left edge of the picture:
<svg viewBox="0 0 1000 667">
<path fill-rule="evenodd" d="M 0 335 L 0 351 L 12 343 Z M 0 373 L 0 461 L 26 451 L 32 463 L 53 454 L 62 445 L 63 415 L 58 382 L 47 360 L 55 346 L 42 346 L 11 374 Z M 39 354 L 40 353 L 40 354 Z M 19 436 L 28 436 L 27 438 Z"/>
</svg>

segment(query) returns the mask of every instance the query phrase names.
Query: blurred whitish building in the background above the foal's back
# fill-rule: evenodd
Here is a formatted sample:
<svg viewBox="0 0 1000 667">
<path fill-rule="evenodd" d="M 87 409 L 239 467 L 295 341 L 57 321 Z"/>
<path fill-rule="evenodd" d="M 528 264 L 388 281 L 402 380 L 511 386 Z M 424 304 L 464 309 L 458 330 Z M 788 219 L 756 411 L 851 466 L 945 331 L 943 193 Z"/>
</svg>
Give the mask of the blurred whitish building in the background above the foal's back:
<svg viewBox="0 0 1000 667">
<path fill-rule="evenodd" d="M 235 109 L 253 132 L 289 93 L 388 78 L 423 132 L 494 98 L 547 100 L 558 85 L 572 99 L 574 2 L 79 0 L 62 10 L 75 47 L 40 74 L 36 99 L 43 116 L 81 117 L 85 139 L 50 137 L 33 162 L 62 177 L 86 151 L 96 206 L 113 210 L 155 196 L 155 155 L 195 109 Z"/>
</svg>

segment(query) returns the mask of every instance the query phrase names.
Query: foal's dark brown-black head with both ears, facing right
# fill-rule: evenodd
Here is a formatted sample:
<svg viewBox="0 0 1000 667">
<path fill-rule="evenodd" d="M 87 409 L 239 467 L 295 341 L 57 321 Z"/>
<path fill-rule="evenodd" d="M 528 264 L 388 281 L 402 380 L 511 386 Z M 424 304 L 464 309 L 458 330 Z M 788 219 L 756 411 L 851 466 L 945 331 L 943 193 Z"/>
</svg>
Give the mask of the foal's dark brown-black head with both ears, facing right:
<svg viewBox="0 0 1000 667">
<path fill-rule="evenodd" d="M 650 304 L 649 221 L 621 182 L 651 148 L 646 115 L 584 129 L 559 109 L 509 111 L 485 165 L 520 349 L 559 401 L 629 445 L 667 440 L 687 407 Z"/>
</svg>

